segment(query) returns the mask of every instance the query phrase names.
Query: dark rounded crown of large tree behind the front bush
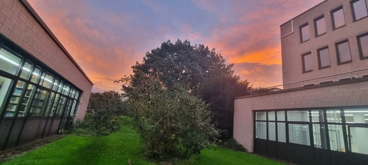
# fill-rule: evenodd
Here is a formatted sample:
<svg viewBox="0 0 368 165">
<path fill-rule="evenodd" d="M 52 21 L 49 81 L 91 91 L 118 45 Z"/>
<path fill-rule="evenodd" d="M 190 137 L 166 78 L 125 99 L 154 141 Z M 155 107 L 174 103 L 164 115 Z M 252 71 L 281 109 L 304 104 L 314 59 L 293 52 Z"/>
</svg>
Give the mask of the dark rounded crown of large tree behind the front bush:
<svg viewBox="0 0 368 165">
<path fill-rule="evenodd" d="M 250 88 L 249 81 L 234 75 L 232 67 L 233 64 L 225 64 L 225 59 L 215 49 L 209 50 L 202 44 L 191 45 L 188 40 L 178 39 L 176 43 L 168 40 L 147 52 L 142 64 L 137 62 L 132 67 L 133 75 L 120 80 L 129 78 L 129 83 L 122 86 L 127 93 L 138 87 L 144 92 L 147 88 L 144 86 L 154 77 L 167 89 L 184 84 L 190 94 L 210 104 L 214 122 L 221 123 L 217 125 L 223 130 L 221 139 L 226 139 L 233 133 L 234 98 L 247 95 Z M 148 76 L 142 76 L 141 72 Z"/>
</svg>

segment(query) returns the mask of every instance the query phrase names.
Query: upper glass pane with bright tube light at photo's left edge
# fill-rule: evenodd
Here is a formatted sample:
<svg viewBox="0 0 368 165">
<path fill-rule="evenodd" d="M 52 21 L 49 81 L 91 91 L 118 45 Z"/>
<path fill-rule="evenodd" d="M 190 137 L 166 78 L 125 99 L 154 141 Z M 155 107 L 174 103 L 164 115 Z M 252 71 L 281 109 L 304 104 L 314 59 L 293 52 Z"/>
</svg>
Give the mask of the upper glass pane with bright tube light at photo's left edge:
<svg viewBox="0 0 368 165">
<path fill-rule="evenodd" d="M 0 64 L 0 70 L 15 75 L 21 64 L 21 58 L 1 48 Z"/>
</svg>

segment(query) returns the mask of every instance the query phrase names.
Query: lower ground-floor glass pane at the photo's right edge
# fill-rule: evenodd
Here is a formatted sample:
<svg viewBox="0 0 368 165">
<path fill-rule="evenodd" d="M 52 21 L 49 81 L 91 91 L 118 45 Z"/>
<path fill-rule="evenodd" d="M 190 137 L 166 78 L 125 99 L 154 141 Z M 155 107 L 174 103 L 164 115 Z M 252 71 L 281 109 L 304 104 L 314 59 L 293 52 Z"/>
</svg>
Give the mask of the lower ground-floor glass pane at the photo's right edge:
<svg viewBox="0 0 368 165">
<path fill-rule="evenodd" d="M 368 154 L 368 128 L 350 127 L 352 152 Z"/>
</svg>

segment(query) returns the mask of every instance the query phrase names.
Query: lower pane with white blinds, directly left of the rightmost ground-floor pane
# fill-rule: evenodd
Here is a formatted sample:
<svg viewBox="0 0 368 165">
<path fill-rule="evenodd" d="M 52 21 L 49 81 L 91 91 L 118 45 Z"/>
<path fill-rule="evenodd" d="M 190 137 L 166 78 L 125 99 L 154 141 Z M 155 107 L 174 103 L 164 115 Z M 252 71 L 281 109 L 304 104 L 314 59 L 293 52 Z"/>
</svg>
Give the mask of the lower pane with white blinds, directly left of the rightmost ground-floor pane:
<svg viewBox="0 0 368 165">
<path fill-rule="evenodd" d="M 345 152 L 344 137 L 341 125 L 328 125 L 330 149 L 332 151 Z"/>
</svg>

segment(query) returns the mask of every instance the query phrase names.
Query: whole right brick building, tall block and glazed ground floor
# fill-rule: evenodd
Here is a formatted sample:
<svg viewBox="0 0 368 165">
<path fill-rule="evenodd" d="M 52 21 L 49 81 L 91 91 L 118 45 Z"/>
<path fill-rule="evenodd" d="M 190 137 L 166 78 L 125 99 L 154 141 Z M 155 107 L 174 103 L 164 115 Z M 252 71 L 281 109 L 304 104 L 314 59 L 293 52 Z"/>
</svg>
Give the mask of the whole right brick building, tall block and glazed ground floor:
<svg viewBox="0 0 368 165">
<path fill-rule="evenodd" d="M 241 145 L 298 164 L 368 162 L 367 3 L 326 0 L 281 25 L 284 90 L 235 100 Z"/>
</svg>

